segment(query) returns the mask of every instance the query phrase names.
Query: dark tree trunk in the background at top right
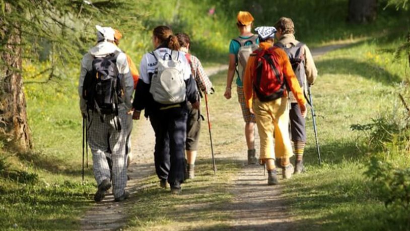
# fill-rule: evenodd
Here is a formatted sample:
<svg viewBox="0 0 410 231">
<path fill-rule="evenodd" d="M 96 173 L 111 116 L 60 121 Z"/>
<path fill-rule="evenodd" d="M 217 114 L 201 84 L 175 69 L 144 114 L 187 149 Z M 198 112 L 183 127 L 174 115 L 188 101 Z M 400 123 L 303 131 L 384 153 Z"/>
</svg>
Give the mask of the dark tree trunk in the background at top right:
<svg viewBox="0 0 410 231">
<path fill-rule="evenodd" d="M 373 22 L 376 16 L 377 0 L 349 0 L 349 22 L 369 23 Z"/>
</svg>

